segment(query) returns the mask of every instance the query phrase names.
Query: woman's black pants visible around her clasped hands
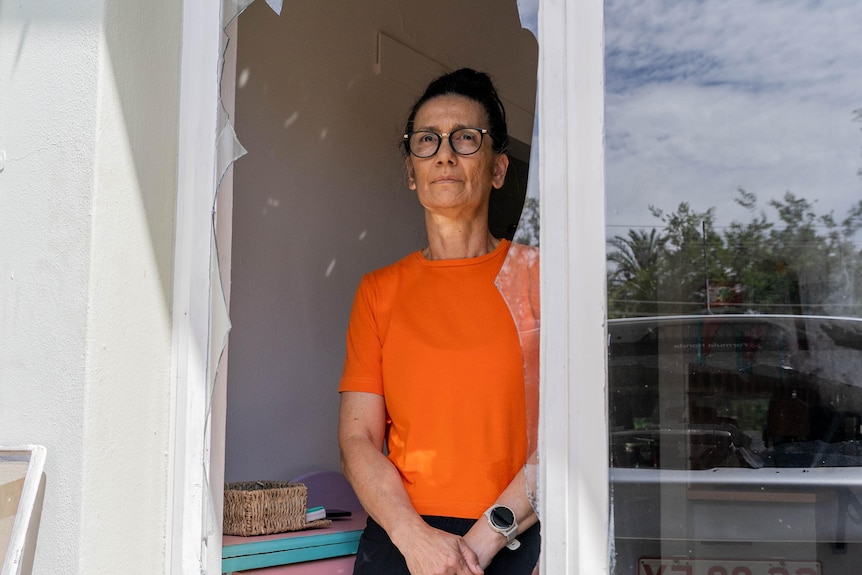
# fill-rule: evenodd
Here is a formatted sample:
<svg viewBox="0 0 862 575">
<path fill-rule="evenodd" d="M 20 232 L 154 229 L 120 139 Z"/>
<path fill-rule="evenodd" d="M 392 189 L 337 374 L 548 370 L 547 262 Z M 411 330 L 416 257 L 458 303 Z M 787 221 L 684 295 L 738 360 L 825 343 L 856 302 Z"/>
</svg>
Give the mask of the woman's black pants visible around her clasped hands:
<svg viewBox="0 0 862 575">
<path fill-rule="evenodd" d="M 431 527 L 461 536 L 476 522 L 475 519 L 432 515 L 424 515 L 422 518 Z M 521 546 L 514 551 L 504 547 L 497 553 L 485 569 L 485 575 L 530 575 L 533 572 L 541 549 L 539 524 L 518 535 L 518 541 Z M 359 539 L 353 575 L 410 575 L 404 556 L 389 539 L 386 531 L 370 517 Z"/>
</svg>

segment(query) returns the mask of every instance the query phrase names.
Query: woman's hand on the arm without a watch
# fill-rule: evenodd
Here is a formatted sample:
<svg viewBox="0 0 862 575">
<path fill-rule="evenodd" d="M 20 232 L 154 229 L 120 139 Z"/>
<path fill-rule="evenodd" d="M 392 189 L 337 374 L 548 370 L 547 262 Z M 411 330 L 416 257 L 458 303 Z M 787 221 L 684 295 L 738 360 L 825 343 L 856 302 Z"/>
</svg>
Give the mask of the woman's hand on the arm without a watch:
<svg viewBox="0 0 862 575">
<path fill-rule="evenodd" d="M 411 575 L 484 573 L 476 553 L 457 535 L 424 524 L 401 531 L 397 537 L 396 546 L 407 560 Z"/>
</svg>

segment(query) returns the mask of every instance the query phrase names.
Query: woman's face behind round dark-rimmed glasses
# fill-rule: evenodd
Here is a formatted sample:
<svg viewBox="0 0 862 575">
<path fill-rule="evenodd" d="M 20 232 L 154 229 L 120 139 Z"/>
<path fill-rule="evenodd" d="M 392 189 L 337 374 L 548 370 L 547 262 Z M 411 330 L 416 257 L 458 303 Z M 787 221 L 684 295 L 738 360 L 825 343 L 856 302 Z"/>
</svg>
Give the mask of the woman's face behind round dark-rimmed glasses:
<svg viewBox="0 0 862 575">
<path fill-rule="evenodd" d="M 413 121 L 414 130 L 438 134 L 458 128 L 488 128 L 482 104 L 464 96 L 446 95 L 422 105 Z M 509 158 L 495 155 L 487 134 L 475 154 L 461 156 L 443 138 L 440 149 L 430 158 L 407 158 L 407 176 L 419 202 L 434 213 L 458 215 L 487 212 L 491 188 L 499 188 L 506 178 Z"/>
</svg>

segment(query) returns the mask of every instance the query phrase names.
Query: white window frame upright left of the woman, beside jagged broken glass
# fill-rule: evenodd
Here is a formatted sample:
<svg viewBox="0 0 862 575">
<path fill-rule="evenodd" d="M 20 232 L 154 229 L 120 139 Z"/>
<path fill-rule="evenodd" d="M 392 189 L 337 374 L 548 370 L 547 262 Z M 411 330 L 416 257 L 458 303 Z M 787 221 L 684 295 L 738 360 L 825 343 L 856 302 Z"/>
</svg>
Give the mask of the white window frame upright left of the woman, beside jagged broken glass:
<svg viewBox="0 0 862 575">
<path fill-rule="evenodd" d="M 221 537 L 202 535 L 211 527 L 205 469 L 211 455 L 224 460 L 209 451 L 207 417 L 221 2 L 184 0 L 182 26 L 165 573 L 215 575 Z"/>
</svg>

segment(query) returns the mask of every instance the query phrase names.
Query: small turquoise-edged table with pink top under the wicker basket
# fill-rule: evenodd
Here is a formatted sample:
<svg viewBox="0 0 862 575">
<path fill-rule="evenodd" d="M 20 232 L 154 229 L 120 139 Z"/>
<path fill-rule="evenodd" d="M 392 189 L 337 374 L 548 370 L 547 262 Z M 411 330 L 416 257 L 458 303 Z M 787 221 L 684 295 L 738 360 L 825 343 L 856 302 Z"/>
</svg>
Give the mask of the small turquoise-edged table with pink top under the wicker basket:
<svg viewBox="0 0 862 575">
<path fill-rule="evenodd" d="M 225 535 L 222 538 L 222 573 L 354 555 L 367 518 L 365 512 L 354 511 L 350 517 L 333 519 L 332 525 L 323 529 L 252 537 Z M 350 559 L 347 559 L 347 562 L 350 562 Z M 267 569 L 254 573 L 276 575 L 296 572 L 297 570 Z"/>
</svg>

